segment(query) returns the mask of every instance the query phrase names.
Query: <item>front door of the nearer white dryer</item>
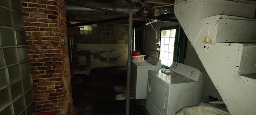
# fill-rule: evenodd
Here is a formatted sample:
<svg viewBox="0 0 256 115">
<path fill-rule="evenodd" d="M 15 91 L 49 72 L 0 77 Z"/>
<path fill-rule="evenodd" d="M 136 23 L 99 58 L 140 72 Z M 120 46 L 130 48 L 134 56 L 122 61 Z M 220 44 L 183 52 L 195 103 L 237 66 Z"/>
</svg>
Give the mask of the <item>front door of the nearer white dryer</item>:
<svg viewBox="0 0 256 115">
<path fill-rule="evenodd" d="M 152 77 L 149 77 L 149 84 L 148 84 L 148 100 L 152 103 L 152 109 L 157 109 L 159 113 L 157 115 L 164 115 L 165 109 L 165 99 L 166 99 L 166 88 L 158 83 Z M 148 107 L 149 108 L 149 107 Z M 151 108 L 151 107 L 150 107 Z M 154 111 L 156 112 L 156 111 Z M 153 115 L 152 113 L 150 113 Z"/>
</svg>

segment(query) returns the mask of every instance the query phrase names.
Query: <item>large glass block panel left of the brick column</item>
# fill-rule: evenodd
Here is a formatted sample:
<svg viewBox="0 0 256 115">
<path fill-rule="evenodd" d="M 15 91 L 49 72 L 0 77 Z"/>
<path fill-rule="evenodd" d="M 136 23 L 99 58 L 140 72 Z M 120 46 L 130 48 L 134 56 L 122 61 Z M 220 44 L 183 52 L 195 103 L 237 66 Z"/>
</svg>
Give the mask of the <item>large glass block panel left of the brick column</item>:
<svg viewBox="0 0 256 115">
<path fill-rule="evenodd" d="M 21 0 L 0 0 L 0 115 L 36 115 Z"/>
</svg>

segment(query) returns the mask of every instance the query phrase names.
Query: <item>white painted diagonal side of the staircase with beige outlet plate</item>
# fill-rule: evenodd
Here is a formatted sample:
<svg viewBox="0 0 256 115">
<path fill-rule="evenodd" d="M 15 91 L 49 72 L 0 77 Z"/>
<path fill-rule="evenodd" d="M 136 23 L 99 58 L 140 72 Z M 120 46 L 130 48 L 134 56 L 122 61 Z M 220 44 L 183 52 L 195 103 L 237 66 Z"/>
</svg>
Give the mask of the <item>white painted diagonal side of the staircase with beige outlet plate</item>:
<svg viewBox="0 0 256 115">
<path fill-rule="evenodd" d="M 177 1 L 178 0 L 176 0 L 176 2 Z M 255 115 L 256 83 L 236 75 L 236 65 L 239 65 L 237 62 L 241 61 L 241 54 L 243 52 L 240 49 L 241 44 L 227 43 L 229 45 L 220 45 L 215 43 L 216 35 L 218 34 L 218 24 L 216 24 L 218 20 L 210 19 L 198 22 L 197 19 L 198 15 L 202 13 L 202 11 L 198 9 L 202 7 L 200 4 L 202 4 L 203 1 L 208 2 L 209 0 L 187 0 L 186 2 L 181 2 L 174 6 L 174 13 L 181 26 L 184 28 L 188 39 L 192 42 L 192 46 L 194 46 L 198 57 L 212 79 L 216 89 L 222 96 L 230 113 L 232 115 Z M 220 0 L 210 1 L 219 2 Z M 225 0 L 221 1 L 224 1 L 222 2 L 223 4 L 226 3 Z M 242 2 L 236 3 L 240 5 L 244 4 Z M 255 3 L 256 2 L 254 2 L 254 10 L 252 12 L 255 12 Z M 230 4 L 226 4 L 226 6 L 229 5 Z M 241 12 L 240 10 L 250 12 L 245 9 L 237 8 L 238 12 Z M 214 9 L 212 9 L 212 12 L 214 12 Z M 213 13 L 213 15 L 215 14 Z M 239 13 L 233 15 L 240 16 Z M 204 36 L 213 36 L 213 43 L 203 44 L 202 40 Z M 204 46 L 206 46 L 206 48 L 204 48 Z M 255 51 L 250 50 L 249 52 Z M 254 63 L 255 61 L 251 62 Z"/>
</svg>

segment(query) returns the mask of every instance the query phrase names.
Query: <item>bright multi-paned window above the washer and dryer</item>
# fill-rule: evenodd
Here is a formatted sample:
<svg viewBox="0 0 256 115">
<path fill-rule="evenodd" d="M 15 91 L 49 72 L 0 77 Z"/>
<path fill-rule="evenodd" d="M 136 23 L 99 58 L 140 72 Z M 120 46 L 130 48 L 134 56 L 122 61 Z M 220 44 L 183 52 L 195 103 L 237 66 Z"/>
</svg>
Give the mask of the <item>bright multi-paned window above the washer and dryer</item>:
<svg viewBox="0 0 256 115">
<path fill-rule="evenodd" d="M 165 67 L 170 67 L 175 60 L 176 39 L 178 28 L 162 29 L 160 36 L 160 59 Z"/>
</svg>

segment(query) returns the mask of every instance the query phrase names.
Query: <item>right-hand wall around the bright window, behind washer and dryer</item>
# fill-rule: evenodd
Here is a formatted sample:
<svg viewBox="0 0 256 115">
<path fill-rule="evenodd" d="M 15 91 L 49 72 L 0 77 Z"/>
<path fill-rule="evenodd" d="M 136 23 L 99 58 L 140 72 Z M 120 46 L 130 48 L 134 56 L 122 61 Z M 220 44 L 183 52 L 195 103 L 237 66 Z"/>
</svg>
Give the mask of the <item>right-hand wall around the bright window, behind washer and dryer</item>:
<svg viewBox="0 0 256 115">
<path fill-rule="evenodd" d="M 169 26 L 177 26 L 180 25 L 178 22 L 157 22 L 152 24 L 155 30 L 158 33 L 158 37 L 160 34 L 160 28 L 169 27 Z M 180 29 L 179 29 L 180 31 Z M 159 52 L 156 50 L 158 45 L 155 43 L 156 34 L 152 29 L 152 26 L 146 26 L 145 32 L 145 42 L 144 42 L 144 52 L 146 53 L 145 59 L 148 59 L 148 56 L 159 56 Z M 158 40 L 157 40 L 158 42 Z M 192 67 L 196 67 L 200 69 L 204 74 L 204 87 L 202 91 L 202 100 L 203 102 L 208 101 L 208 95 L 212 97 L 218 98 L 222 100 L 220 94 L 218 93 L 217 89 L 213 85 L 212 81 L 210 80 L 209 75 L 207 74 L 204 66 L 202 65 L 200 59 L 198 58 L 194 48 L 191 46 L 191 43 L 188 41 L 187 50 L 186 50 L 186 58 L 184 59 L 184 64 L 190 65 Z"/>
</svg>

